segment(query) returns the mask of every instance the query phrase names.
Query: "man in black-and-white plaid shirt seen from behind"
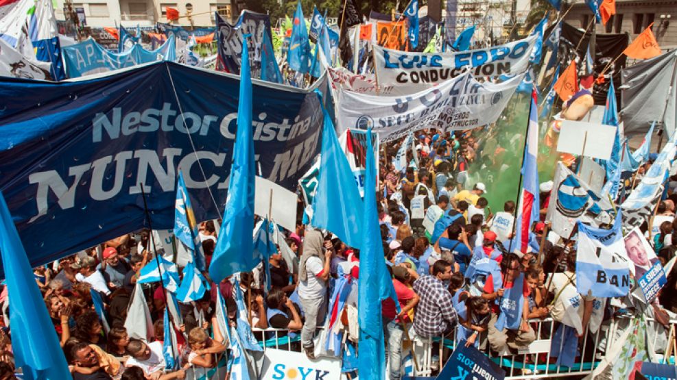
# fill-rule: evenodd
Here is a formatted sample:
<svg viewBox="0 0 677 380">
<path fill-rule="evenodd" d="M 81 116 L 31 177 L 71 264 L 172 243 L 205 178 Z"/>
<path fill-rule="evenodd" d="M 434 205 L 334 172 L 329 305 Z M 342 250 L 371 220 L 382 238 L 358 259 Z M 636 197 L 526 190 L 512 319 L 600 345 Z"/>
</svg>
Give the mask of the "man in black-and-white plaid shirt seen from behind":
<svg viewBox="0 0 677 380">
<path fill-rule="evenodd" d="M 420 277 L 414 282 L 414 292 L 420 296 L 414 329 L 423 338 L 447 335 L 458 320 L 451 303 L 451 293 L 445 284 L 449 279 L 451 264 L 438 260 L 433 264 L 433 275 Z"/>
</svg>

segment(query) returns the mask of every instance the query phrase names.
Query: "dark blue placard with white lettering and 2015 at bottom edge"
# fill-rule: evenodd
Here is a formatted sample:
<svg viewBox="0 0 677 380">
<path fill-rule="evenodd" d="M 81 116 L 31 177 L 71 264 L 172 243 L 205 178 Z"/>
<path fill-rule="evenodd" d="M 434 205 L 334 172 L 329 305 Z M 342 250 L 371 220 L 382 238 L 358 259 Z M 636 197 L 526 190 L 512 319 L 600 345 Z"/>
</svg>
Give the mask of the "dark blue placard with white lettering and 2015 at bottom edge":
<svg viewBox="0 0 677 380">
<path fill-rule="evenodd" d="M 505 378 L 506 371 L 475 347 L 466 347 L 465 340 L 459 342 L 437 377 L 439 380 L 503 380 Z"/>
</svg>

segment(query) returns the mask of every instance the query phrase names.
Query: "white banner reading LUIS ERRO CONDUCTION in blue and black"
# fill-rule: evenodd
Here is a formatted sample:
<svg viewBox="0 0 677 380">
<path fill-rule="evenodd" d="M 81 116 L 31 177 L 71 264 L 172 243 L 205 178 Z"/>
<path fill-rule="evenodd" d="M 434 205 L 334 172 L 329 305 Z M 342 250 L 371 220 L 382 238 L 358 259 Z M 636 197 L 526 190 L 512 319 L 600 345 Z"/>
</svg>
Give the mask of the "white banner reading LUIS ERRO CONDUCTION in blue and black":
<svg viewBox="0 0 677 380">
<path fill-rule="evenodd" d="M 431 86 L 458 77 L 466 68 L 472 68 L 475 77 L 516 75 L 527 70 L 534 45 L 536 36 L 455 53 L 407 53 L 374 46 L 376 75 L 379 84 L 399 86 Z"/>
</svg>

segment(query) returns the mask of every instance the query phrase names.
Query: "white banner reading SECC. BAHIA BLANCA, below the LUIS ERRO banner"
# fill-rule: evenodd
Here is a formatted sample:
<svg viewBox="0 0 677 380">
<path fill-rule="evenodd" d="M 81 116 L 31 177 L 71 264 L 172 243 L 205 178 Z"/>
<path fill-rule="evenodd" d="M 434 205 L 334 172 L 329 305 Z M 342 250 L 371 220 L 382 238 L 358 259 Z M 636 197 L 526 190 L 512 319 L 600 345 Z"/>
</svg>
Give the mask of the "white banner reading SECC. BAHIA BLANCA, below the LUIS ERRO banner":
<svg viewBox="0 0 677 380">
<path fill-rule="evenodd" d="M 342 91 L 338 127 L 372 127 L 379 140 L 390 141 L 425 128 L 455 131 L 495 123 L 522 80 L 480 83 L 470 73 L 407 96 L 377 97 Z"/>
</svg>

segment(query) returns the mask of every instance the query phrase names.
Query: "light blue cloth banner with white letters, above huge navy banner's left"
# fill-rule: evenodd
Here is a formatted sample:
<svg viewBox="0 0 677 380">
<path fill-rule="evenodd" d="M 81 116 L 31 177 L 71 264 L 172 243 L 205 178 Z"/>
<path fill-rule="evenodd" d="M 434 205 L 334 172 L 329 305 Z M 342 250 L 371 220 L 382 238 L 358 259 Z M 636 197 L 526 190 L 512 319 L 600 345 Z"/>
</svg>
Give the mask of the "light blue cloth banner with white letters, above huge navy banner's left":
<svg viewBox="0 0 677 380">
<path fill-rule="evenodd" d="M 157 50 L 148 51 L 141 45 L 134 44 L 131 49 L 122 53 L 113 53 L 104 49 L 95 40 L 89 38 L 79 44 L 62 47 L 66 75 L 69 78 L 83 77 L 96 73 L 117 70 L 159 60 L 176 61 L 176 44 L 174 37 L 169 37 Z"/>
</svg>

